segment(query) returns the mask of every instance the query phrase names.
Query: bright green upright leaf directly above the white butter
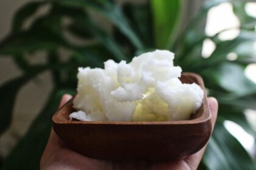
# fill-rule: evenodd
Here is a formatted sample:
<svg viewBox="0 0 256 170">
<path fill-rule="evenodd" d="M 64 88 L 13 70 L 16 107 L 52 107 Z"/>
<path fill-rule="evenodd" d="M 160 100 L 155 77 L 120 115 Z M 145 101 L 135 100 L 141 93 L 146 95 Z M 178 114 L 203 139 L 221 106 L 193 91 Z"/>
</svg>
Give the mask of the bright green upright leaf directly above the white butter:
<svg viewBox="0 0 256 170">
<path fill-rule="evenodd" d="M 154 33 L 156 47 L 169 49 L 172 44 L 182 4 L 179 0 L 159 1 L 151 0 L 154 19 Z"/>
</svg>

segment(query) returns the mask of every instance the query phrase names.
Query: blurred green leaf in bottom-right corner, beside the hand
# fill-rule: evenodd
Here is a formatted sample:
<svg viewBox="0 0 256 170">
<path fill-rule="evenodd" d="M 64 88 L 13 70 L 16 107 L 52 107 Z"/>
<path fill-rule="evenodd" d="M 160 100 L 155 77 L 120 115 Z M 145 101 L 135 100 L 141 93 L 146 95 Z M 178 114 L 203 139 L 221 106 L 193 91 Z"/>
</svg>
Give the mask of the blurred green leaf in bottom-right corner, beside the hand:
<svg viewBox="0 0 256 170">
<path fill-rule="evenodd" d="M 207 150 L 204 155 L 205 164 L 210 169 L 255 169 L 255 163 L 235 137 L 229 134 L 222 121 L 217 121 L 212 135 L 215 150 Z M 217 147 L 219 149 L 217 149 Z M 210 152 L 221 154 L 213 155 Z M 222 160 L 222 161 L 221 161 Z"/>
</svg>

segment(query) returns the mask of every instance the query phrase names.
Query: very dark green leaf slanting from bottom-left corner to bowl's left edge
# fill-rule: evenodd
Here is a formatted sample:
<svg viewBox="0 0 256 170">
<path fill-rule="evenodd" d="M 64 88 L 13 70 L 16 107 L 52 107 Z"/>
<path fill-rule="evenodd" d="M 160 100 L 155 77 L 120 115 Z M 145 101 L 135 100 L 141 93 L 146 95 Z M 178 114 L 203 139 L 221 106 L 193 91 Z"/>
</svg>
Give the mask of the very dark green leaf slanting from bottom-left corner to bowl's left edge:
<svg viewBox="0 0 256 170">
<path fill-rule="evenodd" d="M 51 117 L 59 106 L 60 98 L 66 93 L 74 94 L 74 91 L 54 90 L 52 92 L 48 103 L 7 157 L 2 169 L 39 169 L 40 158 L 51 130 Z"/>
</svg>

